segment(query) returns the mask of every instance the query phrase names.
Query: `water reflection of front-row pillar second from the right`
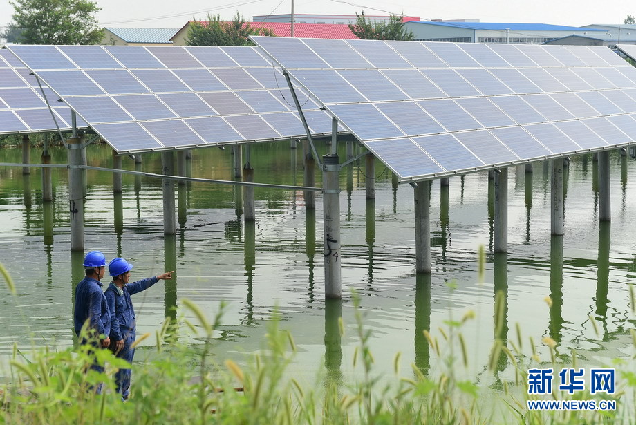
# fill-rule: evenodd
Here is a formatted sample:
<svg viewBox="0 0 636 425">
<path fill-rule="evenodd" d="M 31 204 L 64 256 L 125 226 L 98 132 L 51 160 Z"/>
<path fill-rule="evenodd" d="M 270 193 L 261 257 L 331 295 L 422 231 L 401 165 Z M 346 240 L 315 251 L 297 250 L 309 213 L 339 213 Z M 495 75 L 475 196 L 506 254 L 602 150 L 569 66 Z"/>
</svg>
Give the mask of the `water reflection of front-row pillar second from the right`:
<svg viewBox="0 0 636 425">
<path fill-rule="evenodd" d="M 550 238 L 550 338 L 561 342 L 563 330 L 563 236 Z"/>
</svg>

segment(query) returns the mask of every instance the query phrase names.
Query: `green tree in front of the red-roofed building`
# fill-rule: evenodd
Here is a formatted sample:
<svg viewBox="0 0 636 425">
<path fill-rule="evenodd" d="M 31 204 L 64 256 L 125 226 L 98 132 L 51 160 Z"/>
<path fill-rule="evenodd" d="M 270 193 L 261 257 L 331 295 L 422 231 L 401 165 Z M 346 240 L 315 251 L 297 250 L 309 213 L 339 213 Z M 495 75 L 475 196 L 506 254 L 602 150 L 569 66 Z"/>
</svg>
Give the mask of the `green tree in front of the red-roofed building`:
<svg viewBox="0 0 636 425">
<path fill-rule="evenodd" d="M 254 46 L 247 37 L 250 35 L 269 35 L 274 32 L 269 28 L 252 26 L 238 12 L 232 21 L 221 21 L 221 15 L 207 15 L 206 21 L 194 21 L 189 30 L 186 44 L 188 46 Z"/>
</svg>

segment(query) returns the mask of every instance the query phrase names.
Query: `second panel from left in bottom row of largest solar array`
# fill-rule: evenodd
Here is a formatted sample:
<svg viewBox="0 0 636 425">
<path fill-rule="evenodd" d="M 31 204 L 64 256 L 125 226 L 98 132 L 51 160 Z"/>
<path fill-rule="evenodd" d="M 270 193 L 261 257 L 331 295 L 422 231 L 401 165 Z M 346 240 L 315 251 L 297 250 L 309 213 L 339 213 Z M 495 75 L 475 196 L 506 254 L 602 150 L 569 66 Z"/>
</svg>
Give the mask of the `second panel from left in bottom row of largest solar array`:
<svg viewBox="0 0 636 425">
<path fill-rule="evenodd" d="M 451 134 L 413 138 L 413 141 L 447 170 L 469 169 L 484 165 L 479 158 L 473 155 Z"/>
</svg>

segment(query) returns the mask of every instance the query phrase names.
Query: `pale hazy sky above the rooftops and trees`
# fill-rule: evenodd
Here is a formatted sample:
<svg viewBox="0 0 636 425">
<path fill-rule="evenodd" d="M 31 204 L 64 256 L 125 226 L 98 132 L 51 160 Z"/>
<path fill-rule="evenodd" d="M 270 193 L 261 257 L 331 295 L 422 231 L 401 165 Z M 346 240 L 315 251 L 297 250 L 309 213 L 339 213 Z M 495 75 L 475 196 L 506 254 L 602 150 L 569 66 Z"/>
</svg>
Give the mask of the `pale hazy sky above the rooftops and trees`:
<svg viewBox="0 0 636 425">
<path fill-rule="evenodd" d="M 238 10 L 247 21 L 254 15 L 289 13 L 292 0 L 97 0 L 100 26 L 138 28 L 180 28 L 207 13 L 230 19 Z M 551 23 L 583 26 L 590 23 L 623 23 L 636 15 L 636 2 L 615 0 L 611 7 L 591 0 L 295 0 L 296 13 L 419 16 L 430 19 L 479 19 L 481 22 Z M 13 7 L 0 0 L 0 26 L 11 21 Z"/>
</svg>

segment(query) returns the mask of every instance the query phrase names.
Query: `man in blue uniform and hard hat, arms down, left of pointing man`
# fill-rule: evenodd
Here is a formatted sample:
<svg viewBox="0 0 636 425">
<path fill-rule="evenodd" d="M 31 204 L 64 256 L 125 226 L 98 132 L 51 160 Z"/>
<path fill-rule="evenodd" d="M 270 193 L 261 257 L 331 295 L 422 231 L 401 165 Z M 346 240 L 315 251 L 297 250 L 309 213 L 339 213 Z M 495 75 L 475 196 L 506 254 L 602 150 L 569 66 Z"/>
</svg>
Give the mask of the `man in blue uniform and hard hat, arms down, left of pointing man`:
<svg viewBox="0 0 636 425">
<path fill-rule="evenodd" d="M 106 297 L 102 292 L 102 278 L 106 273 L 106 257 L 100 251 L 91 251 L 84 257 L 86 277 L 75 288 L 75 308 L 73 310 L 73 327 L 82 345 L 90 344 L 93 348 L 106 348 L 111 340 L 111 312 Z M 82 328 L 86 323 L 85 333 Z M 92 354 L 93 349 L 88 353 Z M 93 359 L 91 369 L 104 372 L 104 366 Z M 95 388 L 102 392 L 102 385 Z"/>
</svg>

